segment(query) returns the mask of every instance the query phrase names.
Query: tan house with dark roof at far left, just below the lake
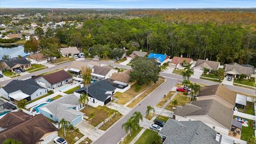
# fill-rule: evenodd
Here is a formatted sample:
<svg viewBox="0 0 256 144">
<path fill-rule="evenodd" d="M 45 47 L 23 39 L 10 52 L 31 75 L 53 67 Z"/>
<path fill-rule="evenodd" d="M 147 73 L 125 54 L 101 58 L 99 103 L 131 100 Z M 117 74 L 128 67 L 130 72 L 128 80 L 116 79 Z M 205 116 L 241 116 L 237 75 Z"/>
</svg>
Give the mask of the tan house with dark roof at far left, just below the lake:
<svg viewBox="0 0 256 144">
<path fill-rule="evenodd" d="M 31 67 L 31 63 L 26 58 L 13 58 L 9 60 L 0 60 L 0 65 L 11 71 L 15 69 L 27 69 Z"/>
</svg>

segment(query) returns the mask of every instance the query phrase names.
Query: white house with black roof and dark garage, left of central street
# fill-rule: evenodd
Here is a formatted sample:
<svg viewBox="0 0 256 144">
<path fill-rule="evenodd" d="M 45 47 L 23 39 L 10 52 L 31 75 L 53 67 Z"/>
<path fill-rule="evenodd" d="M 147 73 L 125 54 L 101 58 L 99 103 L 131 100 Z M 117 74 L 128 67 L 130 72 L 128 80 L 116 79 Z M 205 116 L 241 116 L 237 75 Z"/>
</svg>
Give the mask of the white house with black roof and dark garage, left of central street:
<svg viewBox="0 0 256 144">
<path fill-rule="evenodd" d="M 108 82 L 108 79 L 94 82 L 88 87 L 89 102 L 88 105 L 93 107 L 105 106 L 113 99 L 115 87 Z M 81 87 L 74 92 L 78 97 L 81 93 L 86 94 L 86 87 Z"/>
</svg>

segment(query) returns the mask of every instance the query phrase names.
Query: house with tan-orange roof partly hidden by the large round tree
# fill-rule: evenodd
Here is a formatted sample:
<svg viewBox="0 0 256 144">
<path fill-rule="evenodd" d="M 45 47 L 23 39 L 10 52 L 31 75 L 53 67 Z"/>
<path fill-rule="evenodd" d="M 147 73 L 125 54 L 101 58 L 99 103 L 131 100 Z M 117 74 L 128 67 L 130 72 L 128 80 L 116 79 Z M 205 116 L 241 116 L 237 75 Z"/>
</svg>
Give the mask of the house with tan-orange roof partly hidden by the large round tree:
<svg viewBox="0 0 256 144">
<path fill-rule="evenodd" d="M 115 92 L 125 92 L 131 88 L 130 79 L 129 74 L 113 73 L 109 78 L 109 83 L 116 87 Z"/>
</svg>

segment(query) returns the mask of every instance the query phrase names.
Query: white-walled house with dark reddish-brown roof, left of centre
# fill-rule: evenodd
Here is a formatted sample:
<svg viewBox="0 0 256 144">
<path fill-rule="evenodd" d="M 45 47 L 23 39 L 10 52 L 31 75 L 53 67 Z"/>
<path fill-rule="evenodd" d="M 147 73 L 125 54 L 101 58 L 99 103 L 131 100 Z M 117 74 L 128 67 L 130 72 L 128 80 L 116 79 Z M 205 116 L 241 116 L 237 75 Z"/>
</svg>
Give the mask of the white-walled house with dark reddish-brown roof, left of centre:
<svg viewBox="0 0 256 144">
<path fill-rule="evenodd" d="M 55 73 L 43 75 L 43 76 L 36 76 L 33 77 L 33 79 L 37 83 L 42 83 L 46 87 L 49 87 L 50 89 L 55 89 L 56 87 L 60 87 L 62 85 L 65 85 L 69 82 L 72 82 L 73 77 L 69 75 L 65 70 L 60 70 Z"/>
</svg>

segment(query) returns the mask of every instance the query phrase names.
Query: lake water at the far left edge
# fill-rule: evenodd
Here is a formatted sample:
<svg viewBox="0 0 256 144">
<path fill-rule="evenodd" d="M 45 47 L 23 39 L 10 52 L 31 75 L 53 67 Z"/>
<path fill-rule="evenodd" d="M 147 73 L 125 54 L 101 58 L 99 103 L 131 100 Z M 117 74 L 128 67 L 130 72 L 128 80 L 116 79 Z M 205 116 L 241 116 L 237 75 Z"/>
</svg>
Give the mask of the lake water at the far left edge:
<svg viewBox="0 0 256 144">
<path fill-rule="evenodd" d="M 15 45 L 15 46 L 2 46 L 0 45 L 0 59 L 2 59 L 4 54 L 10 55 L 11 58 L 17 57 L 18 55 L 26 56 L 29 53 L 24 52 L 23 45 Z"/>
</svg>

